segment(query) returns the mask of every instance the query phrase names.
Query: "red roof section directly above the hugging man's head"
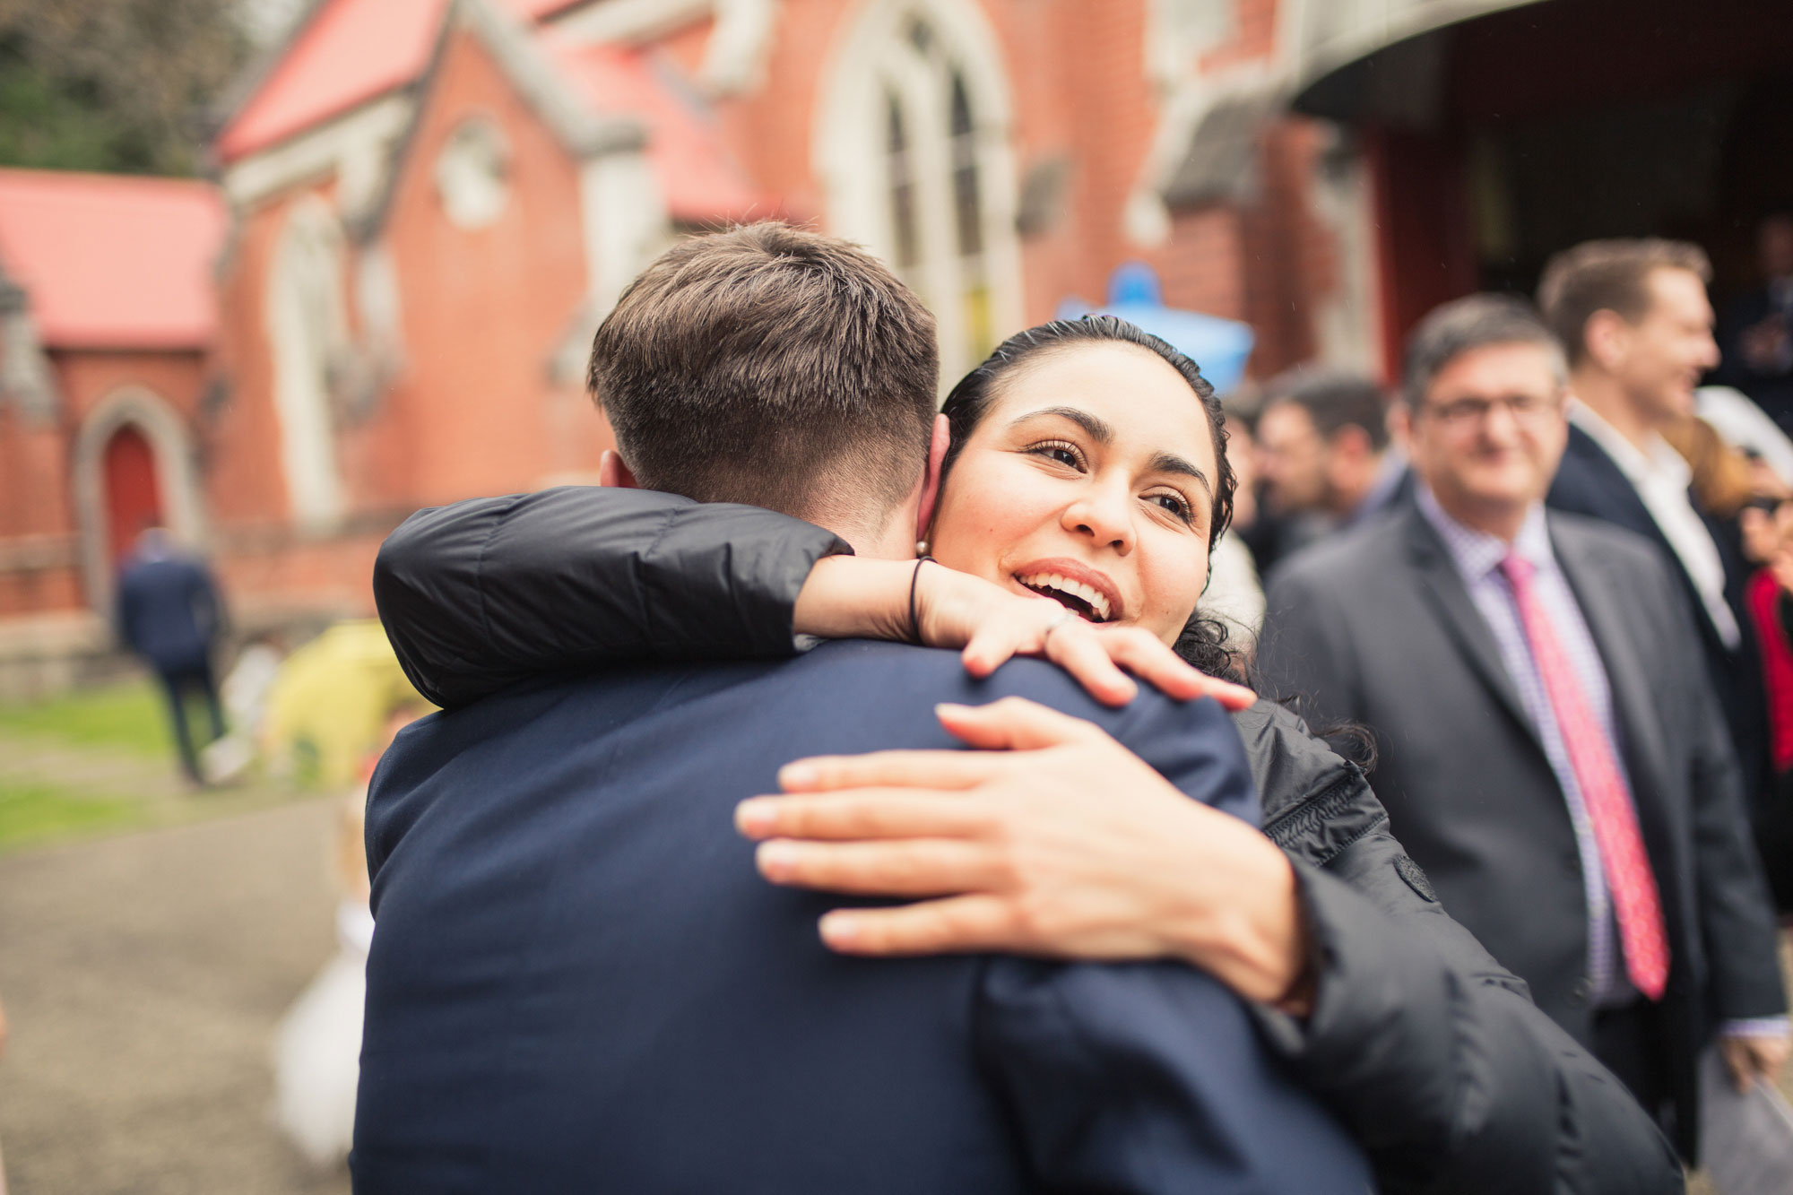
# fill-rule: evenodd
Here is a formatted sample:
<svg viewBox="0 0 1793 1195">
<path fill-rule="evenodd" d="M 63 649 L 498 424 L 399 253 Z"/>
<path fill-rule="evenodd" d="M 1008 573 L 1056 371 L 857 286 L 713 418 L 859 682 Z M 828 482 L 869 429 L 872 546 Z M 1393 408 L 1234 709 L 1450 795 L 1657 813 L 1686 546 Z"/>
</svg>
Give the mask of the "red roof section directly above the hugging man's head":
<svg viewBox="0 0 1793 1195">
<path fill-rule="evenodd" d="M 552 29 L 540 41 L 593 111 L 647 126 L 647 158 L 674 219 L 696 224 L 767 214 L 769 201 L 735 165 L 710 108 L 663 56 L 579 45 Z"/>
</svg>

